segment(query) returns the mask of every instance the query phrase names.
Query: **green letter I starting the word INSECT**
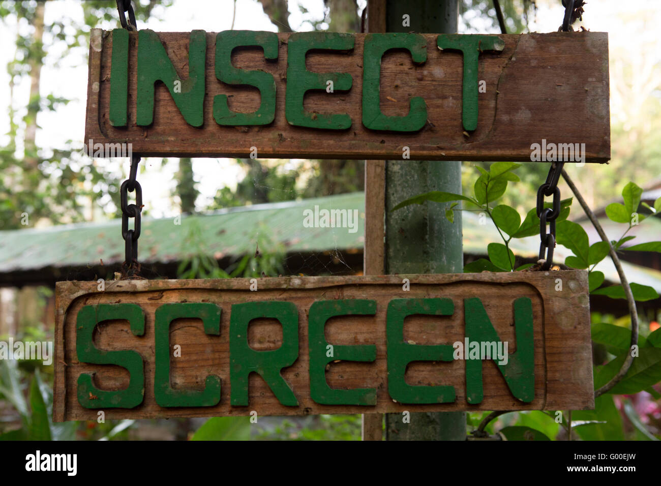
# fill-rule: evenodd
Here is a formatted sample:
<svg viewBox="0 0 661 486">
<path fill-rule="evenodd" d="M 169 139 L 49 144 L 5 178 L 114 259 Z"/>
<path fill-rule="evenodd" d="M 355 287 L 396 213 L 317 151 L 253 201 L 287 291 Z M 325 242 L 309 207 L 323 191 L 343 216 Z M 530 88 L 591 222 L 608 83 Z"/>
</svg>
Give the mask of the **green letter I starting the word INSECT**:
<svg viewBox="0 0 661 486">
<path fill-rule="evenodd" d="M 128 93 L 128 30 L 112 30 L 112 60 L 110 62 L 110 124 L 126 126 Z"/>
</svg>

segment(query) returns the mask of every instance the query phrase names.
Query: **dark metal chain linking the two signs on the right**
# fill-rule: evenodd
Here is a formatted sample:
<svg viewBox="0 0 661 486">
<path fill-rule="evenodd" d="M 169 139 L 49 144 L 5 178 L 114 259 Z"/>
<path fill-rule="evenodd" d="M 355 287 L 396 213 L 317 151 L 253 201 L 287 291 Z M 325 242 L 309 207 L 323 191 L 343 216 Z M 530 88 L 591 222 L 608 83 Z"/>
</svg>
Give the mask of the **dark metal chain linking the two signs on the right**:
<svg viewBox="0 0 661 486">
<path fill-rule="evenodd" d="M 553 250 L 555 249 L 555 220 L 560 216 L 560 188 L 558 181 L 563 173 L 564 162 L 553 162 L 546 182 L 539 186 L 537 190 L 537 217 L 539 218 L 539 260 L 544 263 L 542 270 L 549 270 L 553 265 Z M 551 208 L 544 207 L 544 196 L 553 195 L 553 204 Z M 549 233 L 546 232 L 546 226 L 549 225 Z"/>
</svg>

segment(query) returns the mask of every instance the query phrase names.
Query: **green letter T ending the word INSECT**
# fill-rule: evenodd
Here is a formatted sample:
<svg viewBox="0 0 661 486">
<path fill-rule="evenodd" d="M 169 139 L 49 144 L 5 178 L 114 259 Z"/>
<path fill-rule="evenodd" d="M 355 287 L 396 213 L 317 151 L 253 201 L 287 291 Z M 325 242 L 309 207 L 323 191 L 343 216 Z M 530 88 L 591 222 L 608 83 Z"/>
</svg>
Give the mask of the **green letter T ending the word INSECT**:
<svg viewBox="0 0 661 486">
<path fill-rule="evenodd" d="M 477 128 L 477 57 L 483 51 L 502 51 L 505 43 L 498 36 L 439 34 L 436 44 L 441 49 L 463 52 L 463 94 L 461 110 L 463 129 Z"/>
</svg>

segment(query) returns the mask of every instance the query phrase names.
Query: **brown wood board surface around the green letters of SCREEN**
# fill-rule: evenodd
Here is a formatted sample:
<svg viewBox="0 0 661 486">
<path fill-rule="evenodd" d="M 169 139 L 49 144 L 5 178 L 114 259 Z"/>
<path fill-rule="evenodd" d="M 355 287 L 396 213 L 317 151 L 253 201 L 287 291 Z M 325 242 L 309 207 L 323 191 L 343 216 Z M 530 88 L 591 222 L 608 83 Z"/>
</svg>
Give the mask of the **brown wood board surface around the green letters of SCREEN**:
<svg viewBox="0 0 661 486">
<path fill-rule="evenodd" d="M 403 278 L 410 290 L 402 289 Z M 556 280 L 564 282 L 555 290 Z M 592 349 L 587 273 L 512 272 L 480 274 L 427 274 L 344 277 L 282 277 L 258 279 L 258 291 L 249 290 L 249 279 L 227 280 L 119 280 L 106 282 L 99 292 L 97 282 L 58 282 L 56 287 L 56 376 L 54 419 L 95 420 L 97 411 L 77 401 L 77 379 L 95 373 L 95 385 L 103 390 L 123 389 L 128 372 L 115 365 L 80 362 L 76 352 L 78 311 L 83 305 L 133 303 L 145 313 L 145 332 L 132 335 L 126 321 L 106 321 L 97 326 L 94 343 L 104 350 L 135 350 L 145 362 L 145 396 L 133 409 L 106 409 L 106 419 L 157 417 L 219 417 L 225 415 L 307 415 L 320 413 L 401 413 L 402 411 L 557 410 L 594 407 Z M 449 298 L 455 306 L 447 317 L 412 315 L 404 325 L 404 339 L 416 344 L 451 344 L 462 341 L 463 299 L 478 297 L 502 341 L 516 350 L 513 303 L 527 297 L 532 303 L 535 393 L 530 403 L 514 398 L 492 361 L 483 362 L 484 399 L 469 405 L 465 389 L 465 361 L 412 362 L 409 385 L 452 385 L 456 400 L 436 405 L 403 405 L 391 399 L 387 386 L 385 313 L 393 298 Z M 319 405 L 310 398 L 307 311 L 313 302 L 332 299 L 372 299 L 376 314 L 332 318 L 325 329 L 329 343 L 373 344 L 376 360 L 343 361 L 327 368 L 329 386 L 338 389 L 377 389 L 377 405 Z M 297 407 L 278 402 L 257 374 L 249 379 L 249 406 L 229 403 L 229 319 L 231 305 L 242 302 L 286 300 L 299 313 L 299 356 L 282 369 L 299 401 Z M 221 400 L 212 407 L 159 407 L 153 394 L 155 376 L 155 310 L 162 304 L 212 302 L 222 309 L 219 335 L 206 335 L 197 319 L 178 319 L 170 328 L 171 349 L 181 346 L 181 357 L 171 358 L 171 385 L 175 389 L 202 389 L 208 374 L 221 378 Z M 252 321 L 248 339 L 255 350 L 275 349 L 282 343 L 282 327 L 276 321 Z"/>
</svg>

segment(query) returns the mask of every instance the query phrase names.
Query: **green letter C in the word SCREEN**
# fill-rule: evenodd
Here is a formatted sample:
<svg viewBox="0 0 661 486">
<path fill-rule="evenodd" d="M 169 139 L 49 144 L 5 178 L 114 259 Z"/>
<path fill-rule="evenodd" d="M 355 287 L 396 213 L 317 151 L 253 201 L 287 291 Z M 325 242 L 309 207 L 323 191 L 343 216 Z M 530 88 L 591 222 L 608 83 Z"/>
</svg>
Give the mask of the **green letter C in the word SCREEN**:
<svg viewBox="0 0 661 486">
<path fill-rule="evenodd" d="M 155 313 L 154 397 L 161 407 L 212 407 L 220 401 L 220 378 L 208 375 L 204 390 L 175 390 L 170 385 L 170 324 L 175 319 L 202 319 L 204 333 L 220 334 L 221 309 L 215 304 L 163 304 Z"/>
</svg>

